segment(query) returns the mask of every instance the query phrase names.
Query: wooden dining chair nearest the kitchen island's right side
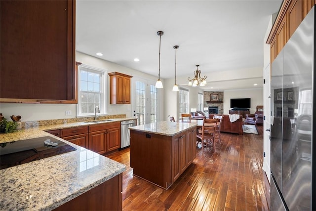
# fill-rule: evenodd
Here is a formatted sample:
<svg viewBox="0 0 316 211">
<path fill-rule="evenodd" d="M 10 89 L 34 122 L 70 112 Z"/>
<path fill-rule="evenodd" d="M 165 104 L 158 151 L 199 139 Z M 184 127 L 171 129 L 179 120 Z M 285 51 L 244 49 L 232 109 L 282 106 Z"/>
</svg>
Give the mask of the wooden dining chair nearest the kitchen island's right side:
<svg viewBox="0 0 316 211">
<path fill-rule="evenodd" d="M 202 144 L 202 153 L 204 144 L 207 147 L 207 145 L 213 145 L 213 150 L 216 152 L 215 147 L 215 129 L 217 125 L 218 119 L 204 119 L 203 120 L 203 126 L 201 130 L 198 130 L 197 138 L 201 139 Z"/>
</svg>

